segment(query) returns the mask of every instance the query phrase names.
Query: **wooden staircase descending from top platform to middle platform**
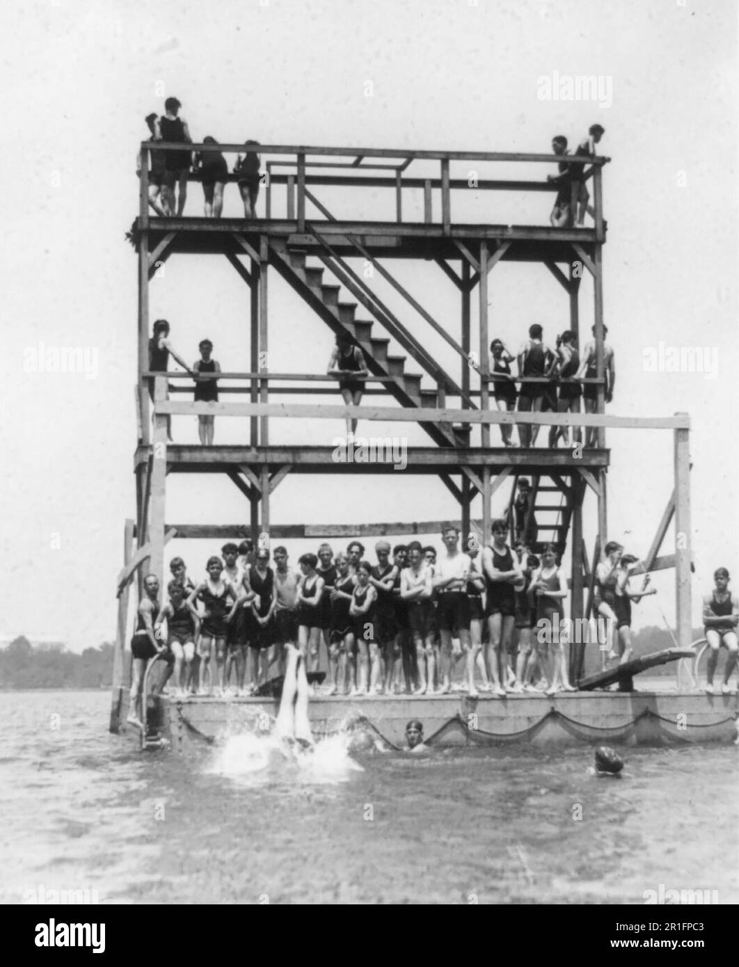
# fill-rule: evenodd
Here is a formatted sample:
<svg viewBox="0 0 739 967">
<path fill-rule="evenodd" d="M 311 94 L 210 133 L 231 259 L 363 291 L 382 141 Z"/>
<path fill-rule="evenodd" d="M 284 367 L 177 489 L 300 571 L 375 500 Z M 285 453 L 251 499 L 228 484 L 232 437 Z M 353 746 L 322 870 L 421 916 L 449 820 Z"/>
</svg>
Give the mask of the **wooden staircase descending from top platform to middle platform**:
<svg viewBox="0 0 739 967">
<path fill-rule="evenodd" d="M 324 267 L 307 264 L 306 249 L 289 246 L 286 240 L 270 241 L 270 262 L 281 277 L 308 303 L 335 335 L 349 337 L 363 351 L 369 372 L 386 378 L 388 392 L 401 406 L 443 407 L 443 390 L 422 389 L 421 373 L 405 370 L 406 356 L 390 353 L 390 339 L 373 333 L 374 320 L 358 319 L 356 302 L 341 299 L 341 286 L 324 281 Z M 412 419 L 412 418 L 411 418 Z M 466 447 L 469 432 L 466 427 L 424 423 L 434 443 L 440 447 Z"/>
</svg>

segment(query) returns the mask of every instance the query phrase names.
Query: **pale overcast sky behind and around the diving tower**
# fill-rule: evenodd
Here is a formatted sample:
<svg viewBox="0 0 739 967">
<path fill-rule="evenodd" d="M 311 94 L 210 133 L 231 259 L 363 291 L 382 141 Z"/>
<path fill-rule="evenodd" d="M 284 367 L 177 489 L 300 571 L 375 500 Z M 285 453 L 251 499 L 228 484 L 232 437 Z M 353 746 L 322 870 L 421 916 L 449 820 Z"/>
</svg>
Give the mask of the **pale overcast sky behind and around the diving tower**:
<svg viewBox="0 0 739 967">
<path fill-rule="evenodd" d="M 79 650 L 114 631 L 123 524 L 135 508 L 136 260 L 124 234 L 137 208 L 143 118 L 162 110 L 162 92 L 182 101 L 195 140 L 547 152 L 552 134 L 576 142 L 590 124 L 604 125 L 601 150 L 612 158 L 604 175 L 605 314 L 617 366 L 610 412 L 691 414 L 697 624 L 714 568 L 737 565 L 735 19 L 734 0 L 4 3 L 0 639 L 22 632 Z M 609 96 L 541 100 L 542 78 L 555 72 L 600 76 Z M 453 165 L 453 176 L 467 168 Z M 544 178 L 548 170 L 498 165 L 480 173 Z M 321 196 L 340 216 L 392 218 L 393 198 L 378 192 Z M 544 194 L 470 192 L 453 198 L 452 212 L 546 224 L 550 202 Z M 283 203 L 276 201 L 278 212 Z M 420 197 L 406 205 L 407 218 L 423 219 Z M 224 212 L 239 214 L 235 186 L 226 189 Z M 186 214 L 202 214 L 197 185 Z M 438 267 L 392 268 L 458 337 L 458 293 Z M 419 317 L 389 301 L 445 366 L 456 365 Z M 567 328 L 567 299 L 542 266 L 496 266 L 489 302 L 490 335 L 512 346 L 533 322 L 551 338 Z M 248 309 L 246 286 L 224 259 L 175 256 L 152 288 L 150 317 L 171 321 L 174 345 L 189 360 L 208 336 L 223 368 L 243 370 Z M 323 371 L 330 332 L 274 272 L 270 313 L 271 367 Z M 586 280 L 581 331 L 591 323 Z M 40 342 L 97 353 L 95 378 L 28 371 Z M 708 347 L 716 378 L 645 371 L 644 351 L 660 342 Z M 196 441 L 194 420 L 175 419 L 174 429 L 176 439 Z M 407 429 L 411 443 L 423 442 L 417 427 Z M 275 421 L 272 440 L 326 445 L 340 430 L 340 422 Z M 216 422 L 217 442 L 244 434 L 243 422 Z M 611 432 L 608 442 L 609 536 L 643 554 L 672 486 L 671 434 Z M 170 478 L 167 498 L 170 521 L 246 519 L 244 498 L 225 479 Z M 502 489 L 494 512 L 504 499 Z M 427 478 L 288 477 L 272 516 L 339 523 L 441 519 L 458 510 L 443 484 Z M 589 544 L 594 534 L 591 503 Z M 166 557 L 183 553 L 198 576 L 217 549 L 173 542 Z M 305 549 L 293 542 L 293 560 Z M 674 615 L 672 572 L 655 583 L 660 595 L 635 609 L 638 625 L 660 624 L 660 607 Z"/>
</svg>

